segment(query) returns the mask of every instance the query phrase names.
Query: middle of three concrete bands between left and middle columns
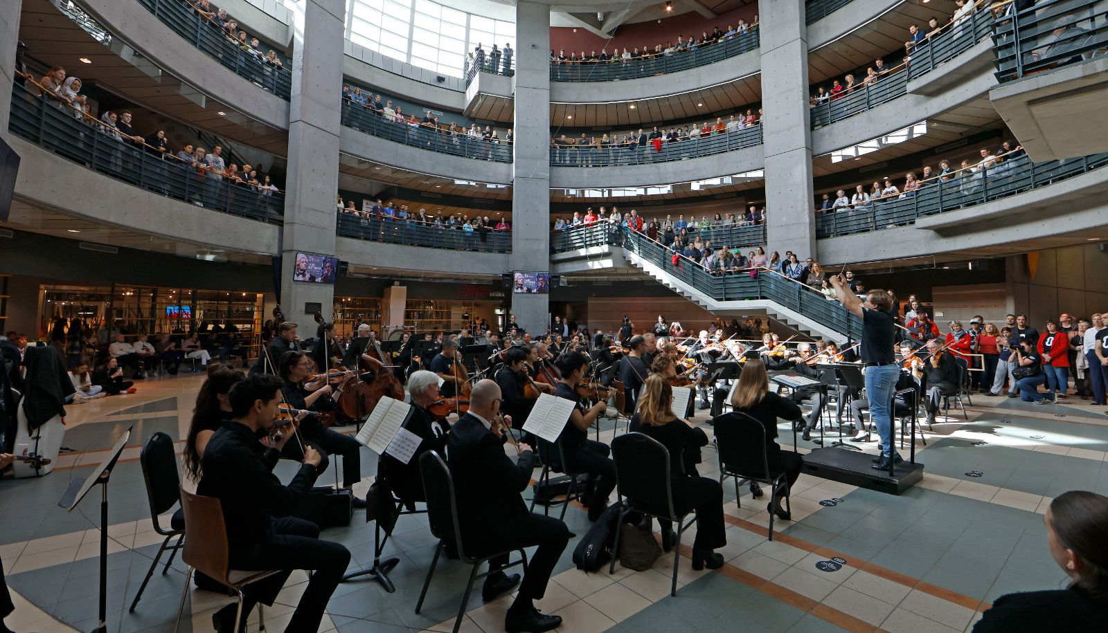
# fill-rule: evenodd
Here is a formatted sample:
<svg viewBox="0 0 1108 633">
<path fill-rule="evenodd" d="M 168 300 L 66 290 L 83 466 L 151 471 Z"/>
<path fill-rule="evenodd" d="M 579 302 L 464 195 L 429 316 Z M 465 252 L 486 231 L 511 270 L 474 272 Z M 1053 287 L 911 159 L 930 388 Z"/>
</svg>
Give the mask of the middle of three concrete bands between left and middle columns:
<svg viewBox="0 0 1108 633">
<path fill-rule="evenodd" d="M 382 165 L 410 169 L 420 174 L 434 174 L 444 178 L 491 183 L 494 185 L 512 184 L 512 164 L 492 160 L 479 160 L 465 156 L 453 156 L 421 149 L 411 145 L 393 143 L 365 132 L 343 127 L 339 148 L 346 154 L 375 160 Z"/>
</svg>

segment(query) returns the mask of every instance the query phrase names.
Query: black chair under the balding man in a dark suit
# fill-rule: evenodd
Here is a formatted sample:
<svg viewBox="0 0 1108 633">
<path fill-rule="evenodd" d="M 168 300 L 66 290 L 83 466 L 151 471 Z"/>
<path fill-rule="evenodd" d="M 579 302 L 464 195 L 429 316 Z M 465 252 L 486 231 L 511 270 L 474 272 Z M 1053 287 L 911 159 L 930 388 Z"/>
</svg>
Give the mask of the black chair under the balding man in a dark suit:
<svg viewBox="0 0 1108 633">
<path fill-rule="evenodd" d="M 473 583 L 485 578 L 492 571 L 478 573 L 481 563 L 499 556 L 510 554 L 513 551 L 520 552 L 520 559 L 510 561 L 501 569 L 507 569 L 517 564 L 523 565 L 523 573 L 527 573 L 527 552 L 522 548 L 494 552 L 484 557 L 475 558 L 465 553 L 462 546 L 462 529 L 458 523 L 458 496 L 454 494 L 454 478 L 450 474 L 450 467 L 442 460 L 442 457 L 433 450 L 428 450 L 419 458 L 420 473 L 423 475 L 423 490 L 427 495 L 427 512 L 431 523 L 431 533 L 439 539 L 439 546 L 434 548 L 434 558 L 431 559 L 431 567 L 427 570 L 427 580 L 423 581 L 423 590 L 419 593 L 419 601 L 416 602 L 416 613 L 423 608 L 423 599 L 427 598 L 427 590 L 431 587 L 431 577 L 434 574 L 434 567 L 439 562 L 439 556 L 448 542 L 454 546 L 458 558 L 462 562 L 472 565 L 470 569 L 470 580 L 465 583 L 465 593 L 462 595 L 462 604 L 458 609 L 458 618 L 454 620 L 454 633 L 462 625 L 462 616 L 465 615 L 465 604 L 470 601 L 470 592 L 473 591 Z"/>
</svg>

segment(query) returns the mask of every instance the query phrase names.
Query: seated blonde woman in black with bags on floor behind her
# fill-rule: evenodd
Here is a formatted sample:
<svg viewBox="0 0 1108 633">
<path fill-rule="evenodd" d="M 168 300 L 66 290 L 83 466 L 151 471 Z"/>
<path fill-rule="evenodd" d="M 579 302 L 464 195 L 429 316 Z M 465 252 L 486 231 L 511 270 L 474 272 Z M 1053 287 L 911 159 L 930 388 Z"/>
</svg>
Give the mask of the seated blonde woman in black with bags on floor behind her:
<svg viewBox="0 0 1108 633">
<path fill-rule="evenodd" d="M 708 445 L 708 436 L 700 428 L 689 426 L 678 419 L 673 411 L 674 392 L 660 375 L 646 378 L 639 397 L 638 412 L 630 419 L 630 430 L 657 439 L 669 452 L 669 481 L 674 495 L 674 511 L 680 515 L 696 510 L 696 540 L 693 543 L 693 569 L 718 569 L 724 565 L 724 557 L 716 548 L 727 544 L 724 527 L 724 488 L 716 479 L 697 477 L 696 469 L 688 468 L 689 456 Z M 635 504 L 635 499 L 630 500 Z M 665 512 L 666 509 L 650 508 Z M 663 544 L 673 538 L 669 528 L 663 526 Z M 668 551 L 668 547 L 666 550 Z"/>
</svg>

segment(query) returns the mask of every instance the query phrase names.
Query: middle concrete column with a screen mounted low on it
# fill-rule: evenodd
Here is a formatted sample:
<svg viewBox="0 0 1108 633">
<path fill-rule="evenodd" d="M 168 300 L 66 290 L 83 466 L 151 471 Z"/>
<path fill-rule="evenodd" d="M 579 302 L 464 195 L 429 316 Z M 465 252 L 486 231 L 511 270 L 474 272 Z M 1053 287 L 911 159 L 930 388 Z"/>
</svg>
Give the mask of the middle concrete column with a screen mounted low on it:
<svg viewBox="0 0 1108 633">
<path fill-rule="evenodd" d="M 550 270 L 550 4 L 515 6 L 515 146 L 512 163 L 512 270 Z M 511 291 L 509 289 L 509 291 Z M 545 332 L 548 294 L 512 294 L 520 326 Z"/>
</svg>

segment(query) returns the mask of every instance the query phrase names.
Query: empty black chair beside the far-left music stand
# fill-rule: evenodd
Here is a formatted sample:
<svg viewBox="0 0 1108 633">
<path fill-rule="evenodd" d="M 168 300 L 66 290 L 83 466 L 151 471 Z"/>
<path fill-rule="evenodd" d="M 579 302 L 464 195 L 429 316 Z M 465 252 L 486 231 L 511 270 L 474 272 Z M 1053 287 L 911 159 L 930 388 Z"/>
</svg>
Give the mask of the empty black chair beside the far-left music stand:
<svg viewBox="0 0 1108 633">
<path fill-rule="evenodd" d="M 170 547 L 170 541 L 174 537 L 177 538 L 176 544 L 170 549 L 170 559 L 165 561 L 162 575 L 170 571 L 173 557 L 177 554 L 177 550 L 185 541 L 185 512 L 183 509 L 178 507 L 177 511 L 173 513 L 168 530 L 162 527 L 162 521 L 158 519 L 160 515 L 167 512 L 170 508 L 181 501 L 181 476 L 177 474 L 177 456 L 173 449 L 173 438 L 162 432 L 151 435 L 138 455 L 138 463 L 142 465 L 142 477 L 146 482 L 146 499 L 150 501 L 150 516 L 154 522 L 154 531 L 165 539 L 162 541 L 162 547 L 157 548 L 157 554 L 154 556 L 150 569 L 146 570 L 146 578 L 138 587 L 138 593 L 131 601 L 131 608 L 127 610 L 130 613 L 134 613 L 135 606 L 138 605 L 138 599 L 146 590 L 146 583 L 154 575 L 154 569 L 162 560 L 162 553 Z"/>
</svg>

